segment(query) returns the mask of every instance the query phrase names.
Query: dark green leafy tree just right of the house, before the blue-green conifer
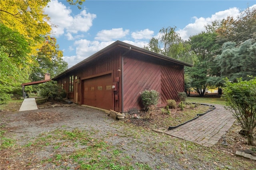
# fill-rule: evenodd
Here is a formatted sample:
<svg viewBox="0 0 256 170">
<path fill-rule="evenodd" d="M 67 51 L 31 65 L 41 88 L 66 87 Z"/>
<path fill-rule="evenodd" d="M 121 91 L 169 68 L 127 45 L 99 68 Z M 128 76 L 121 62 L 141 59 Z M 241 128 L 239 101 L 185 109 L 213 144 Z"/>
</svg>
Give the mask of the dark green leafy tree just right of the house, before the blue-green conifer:
<svg viewBox="0 0 256 170">
<path fill-rule="evenodd" d="M 192 87 L 200 96 L 204 96 L 208 85 L 219 83 L 216 80 L 220 75 L 219 66 L 214 59 L 220 53 L 221 44 L 216 42 L 216 38 L 217 34 L 212 31 L 190 37 L 191 49 L 196 53 L 198 60 L 188 73 L 192 77 Z"/>
</svg>

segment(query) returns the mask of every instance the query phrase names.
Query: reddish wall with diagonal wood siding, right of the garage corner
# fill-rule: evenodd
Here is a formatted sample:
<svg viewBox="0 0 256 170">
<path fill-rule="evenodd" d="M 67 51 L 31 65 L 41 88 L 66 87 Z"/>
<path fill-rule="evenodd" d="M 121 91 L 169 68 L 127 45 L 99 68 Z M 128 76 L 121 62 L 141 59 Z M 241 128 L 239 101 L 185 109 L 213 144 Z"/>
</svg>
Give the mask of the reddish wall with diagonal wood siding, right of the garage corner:
<svg viewBox="0 0 256 170">
<path fill-rule="evenodd" d="M 144 108 L 140 97 L 144 90 L 156 90 L 160 93 L 158 107 L 165 106 L 167 99 L 179 101 L 178 92 L 184 91 L 183 65 L 135 54 L 124 57 L 123 60 L 124 112 L 131 108 Z"/>
</svg>

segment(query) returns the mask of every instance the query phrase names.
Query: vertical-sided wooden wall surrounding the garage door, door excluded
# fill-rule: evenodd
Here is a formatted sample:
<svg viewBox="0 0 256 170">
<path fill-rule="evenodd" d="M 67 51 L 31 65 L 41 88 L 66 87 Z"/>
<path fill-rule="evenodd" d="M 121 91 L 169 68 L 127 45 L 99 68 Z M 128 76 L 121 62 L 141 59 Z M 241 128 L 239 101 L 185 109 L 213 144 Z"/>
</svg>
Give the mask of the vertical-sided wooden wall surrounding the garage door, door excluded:
<svg viewBox="0 0 256 170">
<path fill-rule="evenodd" d="M 112 74 L 112 80 L 113 82 L 116 81 L 116 77 L 119 77 L 120 83 L 122 82 L 121 80 L 121 57 L 120 57 L 121 52 L 116 50 L 112 53 L 107 53 L 105 55 L 102 55 L 100 57 L 97 57 L 93 61 L 90 61 L 88 63 L 85 63 L 84 65 L 78 67 L 74 71 L 68 72 L 65 76 L 59 77 L 58 83 L 61 85 L 63 82 L 63 88 L 68 92 L 69 90 L 69 77 L 74 75 L 74 81 L 79 82 L 78 83 L 78 104 L 83 104 L 83 87 L 82 87 L 82 81 L 92 78 L 92 77 L 97 77 L 100 75 L 104 75 L 105 73 L 111 73 Z M 119 71 L 118 71 L 119 69 Z M 77 77 L 76 80 L 75 77 Z M 65 83 L 66 82 L 66 83 Z M 118 91 L 115 92 L 115 95 L 118 96 L 118 100 L 114 101 L 113 99 L 113 104 L 114 108 L 112 108 L 115 111 L 121 112 L 121 96 L 120 96 L 120 90 L 121 90 L 121 85 L 118 87 Z M 113 92 L 114 93 L 114 92 Z M 68 98 L 72 101 L 74 101 L 74 92 L 68 92 Z M 114 98 L 114 94 L 113 94 Z"/>
</svg>

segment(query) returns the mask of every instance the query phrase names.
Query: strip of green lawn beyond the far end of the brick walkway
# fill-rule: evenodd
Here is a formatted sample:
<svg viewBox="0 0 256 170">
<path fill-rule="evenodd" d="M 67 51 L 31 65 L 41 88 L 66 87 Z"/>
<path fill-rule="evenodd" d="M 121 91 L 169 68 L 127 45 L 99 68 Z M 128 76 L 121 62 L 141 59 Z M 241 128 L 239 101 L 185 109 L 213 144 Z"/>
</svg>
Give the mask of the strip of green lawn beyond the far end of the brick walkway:
<svg viewBox="0 0 256 170">
<path fill-rule="evenodd" d="M 226 105 L 226 102 L 222 98 L 210 98 L 210 97 L 187 97 L 186 101 L 190 103 L 207 103 L 212 105 Z"/>
</svg>

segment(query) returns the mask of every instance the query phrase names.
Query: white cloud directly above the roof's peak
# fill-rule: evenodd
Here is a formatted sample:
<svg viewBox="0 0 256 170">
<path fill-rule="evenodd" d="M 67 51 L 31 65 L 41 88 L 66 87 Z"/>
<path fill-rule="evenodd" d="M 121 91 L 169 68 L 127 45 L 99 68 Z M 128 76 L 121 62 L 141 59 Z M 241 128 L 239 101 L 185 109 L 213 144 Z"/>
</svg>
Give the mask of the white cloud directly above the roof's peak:
<svg viewBox="0 0 256 170">
<path fill-rule="evenodd" d="M 112 30 L 102 30 L 98 32 L 94 39 L 108 42 L 108 41 L 118 40 L 120 38 L 123 38 L 127 34 L 129 34 L 129 30 L 123 30 L 123 28 L 112 28 Z"/>
</svg>

